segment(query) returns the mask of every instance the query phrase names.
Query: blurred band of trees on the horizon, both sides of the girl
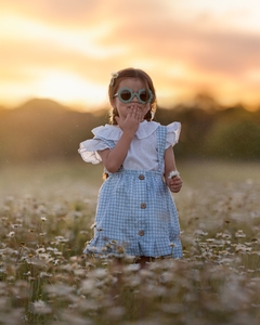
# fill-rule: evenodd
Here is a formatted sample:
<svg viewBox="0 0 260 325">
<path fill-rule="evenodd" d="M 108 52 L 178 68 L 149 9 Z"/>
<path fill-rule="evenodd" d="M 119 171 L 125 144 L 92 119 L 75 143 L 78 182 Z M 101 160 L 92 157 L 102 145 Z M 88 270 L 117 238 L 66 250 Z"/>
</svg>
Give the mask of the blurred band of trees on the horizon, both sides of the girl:
<svg viewBox="0 0 260 325">
<path fill-rule="evenodd" d="M 206 100 L 157 108 L 154 120 L 182 125 L 174 148 L 178 159 L 260 159 L 260 109 L 220 107 Z M 91 130 L 107 123 L 108 118 L 107 109 L 81 113 L 50 100 L 31 100 L 15 109 L 0 108 L 0 162 L 80 158 L 79 143 L 92 138 Z"/>
</svg>

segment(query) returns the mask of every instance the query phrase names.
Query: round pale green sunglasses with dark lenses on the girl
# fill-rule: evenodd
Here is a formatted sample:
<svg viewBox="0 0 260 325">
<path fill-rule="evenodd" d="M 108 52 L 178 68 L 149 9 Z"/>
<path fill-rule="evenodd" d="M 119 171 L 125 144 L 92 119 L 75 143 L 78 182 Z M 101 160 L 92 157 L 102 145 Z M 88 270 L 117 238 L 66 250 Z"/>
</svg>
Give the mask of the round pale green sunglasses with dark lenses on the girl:
<svg viewBox="0 0 260 325">
<path fill-rule="evenodd" d="M 123 87 L 119 89 L 116 94 L 114 94 L 114 98 L 116 96 L 118 96 L 119 101 L 125 104 L 130 103 L 134 96 L 138 98 L 140 104 L 146 104 L 153 100 L 154 95 L 150 89 L 148 89 L 148 93 L 147 90 L 144 88 L 140 89 L 138 92 L 133 92 L 132 89 L 128 87 Z"/>
</svg>

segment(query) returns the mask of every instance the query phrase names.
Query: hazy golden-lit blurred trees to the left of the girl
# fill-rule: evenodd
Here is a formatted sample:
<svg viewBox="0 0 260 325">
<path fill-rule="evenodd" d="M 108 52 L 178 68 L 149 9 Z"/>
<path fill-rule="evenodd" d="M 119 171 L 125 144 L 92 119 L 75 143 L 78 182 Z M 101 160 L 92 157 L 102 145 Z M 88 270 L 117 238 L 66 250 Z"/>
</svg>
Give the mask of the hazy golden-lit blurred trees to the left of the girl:
<svg viewBox="0 0 260 325">
<path fill-rule="evenodd" d="M 68 109 L 50 100 L 32 100 L 0 115 L 0 160 L 20 164 L 78 157 L 80 141 L 102 117 Z"/>
</svg>

